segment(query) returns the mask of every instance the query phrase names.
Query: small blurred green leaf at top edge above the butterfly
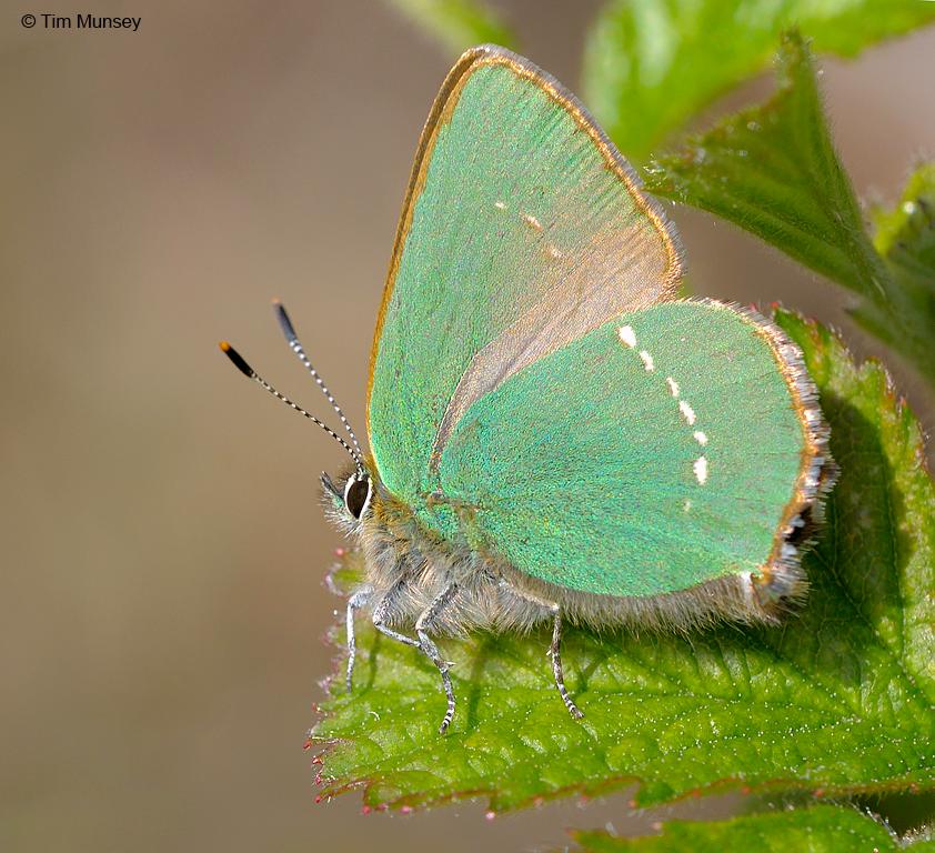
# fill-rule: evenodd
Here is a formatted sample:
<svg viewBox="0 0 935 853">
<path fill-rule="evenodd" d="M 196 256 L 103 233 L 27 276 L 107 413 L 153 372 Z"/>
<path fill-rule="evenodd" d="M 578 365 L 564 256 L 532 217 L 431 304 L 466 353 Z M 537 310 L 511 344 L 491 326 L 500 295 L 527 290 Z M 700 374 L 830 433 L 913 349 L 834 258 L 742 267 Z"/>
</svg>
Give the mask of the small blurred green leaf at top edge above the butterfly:
<svg viewBox="0 0 935 853">
<path fill-rule="evenodd" d="M 459 56 L 474 44 L 512 48 L 515 38 L 500 16 L 476 0 L 391 0 L 406 18 Z"/>
</svg>

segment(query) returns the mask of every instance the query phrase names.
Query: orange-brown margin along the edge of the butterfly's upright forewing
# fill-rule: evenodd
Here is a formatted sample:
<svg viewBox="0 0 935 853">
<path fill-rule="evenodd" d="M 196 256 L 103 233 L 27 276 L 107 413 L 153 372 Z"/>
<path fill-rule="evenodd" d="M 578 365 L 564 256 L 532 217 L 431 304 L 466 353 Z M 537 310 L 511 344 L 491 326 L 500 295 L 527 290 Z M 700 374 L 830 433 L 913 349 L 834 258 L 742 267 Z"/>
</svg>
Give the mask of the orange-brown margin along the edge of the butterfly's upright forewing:
<svg viewBox="0 0 935 853">
<path fill-rule="evenodd" d="M 368 438 L 370 438 L 370 399 L 373 390 L 374 368 L 376 365 L 376 359 L 380 350 L 380 338 L 383 332 L 383 321 L 390 304 L 390 299 L 393 294 L 393 288 L 395 285 L 400 260 L 405 247 L 406 235 L 409 234 L 409 229 L 412 224 L 412 211 L 415 200 L 421 193 L 422 187 L 425 182 L 428 164 L 431 160 L 432 149 L 435 143 L 436 130 L 439 126 L 443 123 L 445 113 L 450 116 L 453 111 L 454 106 L 458 102 L 456 94 L 463 88 L 471 73 L 481 66 L 492 63 L 507 66 L 519 77 L 525 78 L 535 83 L 550 98 L 560 103 L 574 118 L 577 124 L 591 137 L 594 145 L 604 157 L 609 169 L 611 169 L 620 178 L 620 180 L 623 181 L 636 204 L 642 208 L 646 215 L 652 220 L 662 237 L 667 255 L 667 264 L 664 274 L 667 298 L 673 298 L 675 295 L 678 280 L 682 277 L 682 247 L 675 229 L 666 220 L 665 213 L 660 204 L 643 194 L 641 191 L 641 181 L 635 171 L 630 163 L 623 159 L 621 153 L 616 150 L 610 139 L 607 139 L 604 131 L 601 130 L 597 122 L 584 108 L 584 106 L 557 80 L 555 80 L 555 78 L 530 62 L 524 57 L 495 44 L 481 44 L 480 47 L 471 48 L 461 56 L 442 83 L 442 88 L 439 91 L 435 102 L 432 104 L 429 118 L 425 121 L 422 136 L 419 139 L 419 147 L 415 150 L 415 160 L 409 179 L 405 198 L 403 200 L 399 225 L 396 227 L 396 238 L 393 243 L 393 253 L 390 258 L 390 269 L 386 275 L 386 283 L 383 288 L 383 299 L 380 304 L 380 311 L 376 315 L 376 328 L 373 333 L 373 343 L 370 350 L 370 371 L 366 385 Z"/>
</svg>

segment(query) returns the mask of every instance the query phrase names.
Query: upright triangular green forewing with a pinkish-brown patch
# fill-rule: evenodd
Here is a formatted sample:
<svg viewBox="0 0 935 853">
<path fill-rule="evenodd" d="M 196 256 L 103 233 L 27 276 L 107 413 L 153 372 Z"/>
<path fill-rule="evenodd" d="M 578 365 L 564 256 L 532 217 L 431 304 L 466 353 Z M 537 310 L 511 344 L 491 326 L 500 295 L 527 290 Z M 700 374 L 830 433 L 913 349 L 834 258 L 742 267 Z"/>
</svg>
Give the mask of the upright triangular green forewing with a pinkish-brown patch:
<svg viewBox="0 0 935 853">
<path fill-rule="evenodd" d="M 474 402 L 678 277 L 662 214 L 572 96 L 509 51 L 469 51 L 423 131 L 374 337 L 384 485 L 423 512 Z"/>
</svg>

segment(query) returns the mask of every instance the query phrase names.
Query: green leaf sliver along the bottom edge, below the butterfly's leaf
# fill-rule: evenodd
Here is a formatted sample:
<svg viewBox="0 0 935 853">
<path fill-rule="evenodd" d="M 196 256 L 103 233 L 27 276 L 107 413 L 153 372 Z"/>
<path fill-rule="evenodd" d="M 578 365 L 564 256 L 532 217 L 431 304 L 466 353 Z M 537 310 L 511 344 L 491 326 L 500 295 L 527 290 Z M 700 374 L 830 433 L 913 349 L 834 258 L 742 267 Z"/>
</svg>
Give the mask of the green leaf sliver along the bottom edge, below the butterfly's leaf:
<svg viewBox="0 0 935 853">
<path fill-rule="evenodd" d="M 730 821 L 694 823 L 671 821 L 661 835 L 619 839 L 606 832 L 575 832 L 581 849 L 573 853 L 723 853 L 727 850 L 755 850 L 786 853 L 843 851 L 911 850 L 932 853 L 935 842 L 919 840 L 903 843 L 882 823 L 847 806 L 816 805 L 788 812 L 750 814 Z"/>
</svg>

